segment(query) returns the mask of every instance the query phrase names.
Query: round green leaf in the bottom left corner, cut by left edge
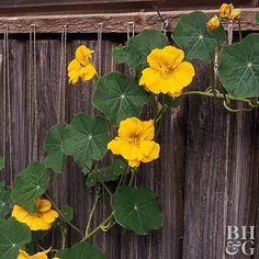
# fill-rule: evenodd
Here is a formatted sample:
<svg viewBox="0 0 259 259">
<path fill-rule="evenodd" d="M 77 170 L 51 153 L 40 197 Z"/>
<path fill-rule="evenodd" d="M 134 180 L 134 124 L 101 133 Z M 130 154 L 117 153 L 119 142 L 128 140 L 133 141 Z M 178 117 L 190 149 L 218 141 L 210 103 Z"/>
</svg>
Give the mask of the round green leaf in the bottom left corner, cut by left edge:
<svg viewBox="0 0 259 259">
<path fill-rule="evenodd" d="M 0 259 L 16 259 L 19 249 L 31 241 L 29 227 L 10 217 L 0 221 Z"/>
</svg>

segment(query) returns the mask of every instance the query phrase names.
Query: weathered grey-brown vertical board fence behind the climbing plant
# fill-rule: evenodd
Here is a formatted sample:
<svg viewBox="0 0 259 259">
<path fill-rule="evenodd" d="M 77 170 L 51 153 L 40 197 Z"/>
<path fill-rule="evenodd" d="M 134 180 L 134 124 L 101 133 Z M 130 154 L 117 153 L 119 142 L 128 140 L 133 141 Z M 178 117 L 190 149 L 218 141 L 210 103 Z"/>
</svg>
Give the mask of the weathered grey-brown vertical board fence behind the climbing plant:
<svg viewBox="0 0 259 259">
<path fill-rule="evenodd" d="M 126 71 L 112 60 L 112 47 L 124 40 L 119 34 L 104 35 L 101 54 L 93 60 L 103 74 L 114 68 Z M 67 60 L 80 44 L 98 49 L 97 35 L 69 35 Z M 1 179 L 8 183 L 30 161 L 43 159 L 44 136 L 58 119 L 69 122 L 79 111 L 97 113 L 90 101 L 91 83 L 77 87 L 60 83 L 60 35 L 37 35 L 36 77 L 30 76 L 30 67 L 34 65 L 29 45 L 26 35 L 10 35 L 9 72 L 3 41 L 0 46 L 0 155 L 7 159 Z M 192 88 L 205 89 L 204 64 L 194 61 L 194 65 L 198 76 Z M 145 116 L 149 115 L 147 109 Z M 160 158 L 143 167 L 138 181 L 158 193 L 165 217 L 162 228 L 149 236 L 136 236 L 114 227 L 105 235 L 99 234 L 93 244 L 105 251 L 108 259 L 228 258 L 226 226 L 259 227 L 258 131 L 259 111 L 230 114 L 221 101 L 187 98 L 181 106 L 166 114 Z M 83 229 L 93 193 L 72 161 L 63 174 L 53 173 L 50 194 L 58 205 L 75 207 L 76 222 Z M 109 211 L 103 202 L 94 224 Z M 68 245 L 79 240 L 70 229 L 68 237 Z M 58 232 L 49 239 L 59 247 Z M 229 258 L 248 257 L 239 252 Z M 255 258 L 259 258 L 259 251 Z"/>
</svg>

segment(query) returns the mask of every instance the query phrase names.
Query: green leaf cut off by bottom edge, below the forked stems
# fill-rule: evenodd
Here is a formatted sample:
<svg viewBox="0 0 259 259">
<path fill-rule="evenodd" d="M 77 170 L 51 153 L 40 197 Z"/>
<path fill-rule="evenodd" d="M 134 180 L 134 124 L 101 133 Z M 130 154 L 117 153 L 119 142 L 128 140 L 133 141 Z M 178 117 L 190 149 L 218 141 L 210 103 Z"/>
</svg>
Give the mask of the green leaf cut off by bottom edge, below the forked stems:
<svg viewBox="0 0 259 259">
<path fill-rule="evenodd" d="M 69 249 L 64 249 L 56 255 L 60 259 L 105 259 L 104 254 L 98 248 L 86 241 L 77 243 Z"/>
</svg>

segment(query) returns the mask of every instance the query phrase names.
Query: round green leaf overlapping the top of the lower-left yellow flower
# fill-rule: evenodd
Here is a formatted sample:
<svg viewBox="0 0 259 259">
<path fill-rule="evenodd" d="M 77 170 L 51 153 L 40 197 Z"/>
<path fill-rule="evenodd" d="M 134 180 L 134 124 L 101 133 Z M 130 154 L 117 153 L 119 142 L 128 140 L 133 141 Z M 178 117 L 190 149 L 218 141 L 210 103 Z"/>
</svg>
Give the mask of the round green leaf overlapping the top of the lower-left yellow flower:
<svg viewBox="0 0 259 259">
<path fill-rule="evenodd" d="M 33 162 L 16 177 L 12 190 L 13 202 L 34 213 L 37 196 L 44 194 L 48 187 L 49 171 L 44 165 Z"/>
</svg>

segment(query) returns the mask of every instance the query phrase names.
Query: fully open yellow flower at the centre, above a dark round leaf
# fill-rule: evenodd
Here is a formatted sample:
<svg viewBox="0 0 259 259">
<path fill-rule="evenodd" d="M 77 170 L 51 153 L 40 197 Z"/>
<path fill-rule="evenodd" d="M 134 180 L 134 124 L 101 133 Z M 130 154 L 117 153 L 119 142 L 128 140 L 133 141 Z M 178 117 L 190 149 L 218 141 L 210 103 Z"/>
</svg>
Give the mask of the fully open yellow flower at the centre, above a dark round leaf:
<svg viewBox="0 0 259 259">
<path fill-rule="evenodd" d="M 155 137 L 154 121 L 128 117 L 120 123 L 119 136 L 108 144 L 114 155 L 121 155 L 131 167 L 150 162 L 159 157 L 160 146 Z"/>
</svg>

